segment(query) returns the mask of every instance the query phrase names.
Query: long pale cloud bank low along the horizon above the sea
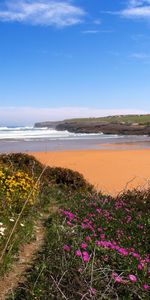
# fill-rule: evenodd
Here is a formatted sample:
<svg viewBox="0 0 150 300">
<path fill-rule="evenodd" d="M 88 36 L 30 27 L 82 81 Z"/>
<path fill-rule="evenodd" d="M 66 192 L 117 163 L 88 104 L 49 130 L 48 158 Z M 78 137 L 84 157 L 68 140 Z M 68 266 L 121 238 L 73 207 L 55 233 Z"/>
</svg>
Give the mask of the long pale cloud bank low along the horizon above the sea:
<svg viewBox="0 0 150 300">
<path fill-rule="evenodd" d="M 91 107 L 0 107 L 0 126 L 33 125 L 35 122 L 58 121 L 68 118 L 142 113 L 148 113 L 148 111 L 140 109 L 100 109 Z"/>
</svg>

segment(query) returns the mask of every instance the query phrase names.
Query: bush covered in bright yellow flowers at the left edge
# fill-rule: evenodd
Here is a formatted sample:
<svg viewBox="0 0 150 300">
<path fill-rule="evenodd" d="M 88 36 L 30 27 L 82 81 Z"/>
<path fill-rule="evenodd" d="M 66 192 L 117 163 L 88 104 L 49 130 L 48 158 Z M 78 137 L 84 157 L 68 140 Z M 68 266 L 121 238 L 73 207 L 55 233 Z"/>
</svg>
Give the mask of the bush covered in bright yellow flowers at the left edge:
<svg viewBox="0 0 150 300">
<path fill-rule="evenodd" d="M 27 208 L 37 199 L 39 188 L 35 180 L 26 172 L 12 172 L 8 168 L 0 169 L 0 208 L 19 212 L 27 201 Z"/>
</svg>

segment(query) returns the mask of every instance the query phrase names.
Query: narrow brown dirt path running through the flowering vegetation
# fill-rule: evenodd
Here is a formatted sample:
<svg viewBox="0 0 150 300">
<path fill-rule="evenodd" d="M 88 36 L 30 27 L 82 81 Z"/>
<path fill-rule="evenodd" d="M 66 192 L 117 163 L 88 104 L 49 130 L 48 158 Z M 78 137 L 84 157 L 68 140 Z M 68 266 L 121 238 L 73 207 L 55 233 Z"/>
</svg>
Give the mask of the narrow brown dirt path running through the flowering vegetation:
<svg viewBox="0 0 150 300">
<path fill-rule="evenodd" d="M 51 212 L 55 212 L 58 208 L 52 207 Z M 0 280 L 0 300 L 5 300 L 8 293 L 12 293 L 13 289 L 24 280 L 25 271 L 28 269 L 37 251 L 44 242 L 44 220 L 49 214 L 44 215 L 42 220 L 38 220 L 34 225 L 35 240 L 29 244 L 22 245 L 18 254 L 17 262 L 12 265 L 11 271 Z"/>
</svg>

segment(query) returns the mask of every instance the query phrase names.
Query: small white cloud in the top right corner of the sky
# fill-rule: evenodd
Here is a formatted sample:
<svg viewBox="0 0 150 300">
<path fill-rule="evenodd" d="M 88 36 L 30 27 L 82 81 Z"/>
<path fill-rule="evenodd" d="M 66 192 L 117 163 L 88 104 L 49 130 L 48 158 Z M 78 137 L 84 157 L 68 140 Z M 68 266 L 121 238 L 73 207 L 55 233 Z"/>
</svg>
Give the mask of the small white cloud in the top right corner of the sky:
<svg viewBox="0 0 150 300">
<path fill-rule="evenodd" d="M 150 19 L 150 0 L 129 0 L 127 8 L 119 14 L 126 18 Z"/>
</svg>

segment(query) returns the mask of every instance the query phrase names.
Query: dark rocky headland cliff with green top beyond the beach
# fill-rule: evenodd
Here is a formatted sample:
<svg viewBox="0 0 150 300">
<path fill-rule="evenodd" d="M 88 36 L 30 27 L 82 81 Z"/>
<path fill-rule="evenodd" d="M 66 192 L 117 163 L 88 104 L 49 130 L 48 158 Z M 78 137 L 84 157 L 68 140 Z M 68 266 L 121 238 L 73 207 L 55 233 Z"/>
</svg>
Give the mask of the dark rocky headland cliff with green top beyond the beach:
<svg viewBox="0 0 150 300">
<path fill-rule="evenodd" d="M 36 123 L 35 127 L 49 127 L 75 133 L 120 135 L 150 135 L 150 115 L 112 116 L 106 118 L 72 119 L 58 122 Z"/>
</svg>

